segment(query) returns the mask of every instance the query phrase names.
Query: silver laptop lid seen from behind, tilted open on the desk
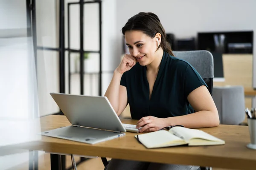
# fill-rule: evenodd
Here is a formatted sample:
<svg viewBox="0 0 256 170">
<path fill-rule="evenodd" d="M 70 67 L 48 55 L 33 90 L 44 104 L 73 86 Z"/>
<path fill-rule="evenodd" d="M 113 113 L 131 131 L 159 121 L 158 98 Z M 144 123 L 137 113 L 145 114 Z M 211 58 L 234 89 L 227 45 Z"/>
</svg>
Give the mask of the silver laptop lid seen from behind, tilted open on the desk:
<svg viewBox="0 0 256 170">
<path fill-rule="evenodd" d="M 72 125 L 126 132 L 107 97 L 50 93 Z"/>
</svg>

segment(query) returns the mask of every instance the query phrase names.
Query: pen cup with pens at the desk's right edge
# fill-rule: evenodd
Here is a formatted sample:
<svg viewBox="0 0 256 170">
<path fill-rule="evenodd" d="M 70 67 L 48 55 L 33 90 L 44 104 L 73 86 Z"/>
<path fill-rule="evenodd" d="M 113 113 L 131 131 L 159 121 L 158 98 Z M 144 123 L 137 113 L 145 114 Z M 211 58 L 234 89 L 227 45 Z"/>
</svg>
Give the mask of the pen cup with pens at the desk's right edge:
<svg viewBox="0 0 256 170">
<path fill-rule="evenodd" d="M 247 123 L 250 133 L 250 143 L 247 147 L 256 150 L 256 109 L 251 109 L 251 111 L 246 108 L 245 113 L 247 114 Z"/>
</svg>

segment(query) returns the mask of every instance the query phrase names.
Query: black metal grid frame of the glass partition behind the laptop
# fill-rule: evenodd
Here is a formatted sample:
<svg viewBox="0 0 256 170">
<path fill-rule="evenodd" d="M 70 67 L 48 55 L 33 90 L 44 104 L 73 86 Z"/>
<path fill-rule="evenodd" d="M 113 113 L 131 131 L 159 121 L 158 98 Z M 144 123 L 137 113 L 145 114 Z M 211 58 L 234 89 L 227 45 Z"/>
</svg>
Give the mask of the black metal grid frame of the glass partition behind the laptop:
<svg viewBox="0 0 256 170">
<path fill-rule="evenodd" d="M 35 53 L 35 62 L 37 63 L 37 50 L 50 50 L 50 51 L 58 51 L 59 52 L 59 77 L 60 77 L 60 93 L 65 93 L 65 51 L 68 51 L 68 72 L 69 72 L 69 93 L 70 93 L 70 52 L 79 52 L 80 53 L 80 94 L 84 94 L 84 53 L 99 53 L 99 96 L 102 95 L 102 1 L 87 1 L 79 0 L 77 3 L 68 3 L 68 48 L 65 48 L 65 30 L 64 30 L 64 0 L 60 1 L 60 19 L 59 19 L 59 48 L 52 47 L 42 47 L 37 45 L 36 39 L 36 17 L 35 17 L 35 0 L 32 0 L 30 4 L 30 0 L 27 1 L 27 6 L 32 10 L 32 30 L 31 30 L 31 14 L 27 12 L 27 25 L 28 25 L 28 35 L 33 37 L 33 46 Z M 84 4 L 86 3 L 99 3 L 99 51 L 84 51 Z M 72 4 L 80 4 L 80 49 L 71 49 L 70 48 L 70 5 Z"/>
</svg>

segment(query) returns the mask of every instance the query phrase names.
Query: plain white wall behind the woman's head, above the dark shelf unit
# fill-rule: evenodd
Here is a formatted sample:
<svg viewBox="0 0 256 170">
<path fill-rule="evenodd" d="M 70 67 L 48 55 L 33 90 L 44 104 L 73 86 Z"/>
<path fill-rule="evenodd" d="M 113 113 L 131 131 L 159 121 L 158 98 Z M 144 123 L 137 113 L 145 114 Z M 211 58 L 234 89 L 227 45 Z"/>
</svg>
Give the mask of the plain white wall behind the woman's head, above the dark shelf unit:
<svg viewBox="0 0 256 170">
<path fill-rule="evenodd" d="M 176 38 L 196 37 L 200 31 L 254 31 L 256 40 L 256 0 L 120 0 L 117 1 L 117 30 L 141 11 L 154 12 L 166 33 Z M 121 34 L 118 34 L 121 43 Z M 121 54 L 121 49 L 119 49 Z M 256 42 L 254 83 L 256 86 Z"/>
</svg>

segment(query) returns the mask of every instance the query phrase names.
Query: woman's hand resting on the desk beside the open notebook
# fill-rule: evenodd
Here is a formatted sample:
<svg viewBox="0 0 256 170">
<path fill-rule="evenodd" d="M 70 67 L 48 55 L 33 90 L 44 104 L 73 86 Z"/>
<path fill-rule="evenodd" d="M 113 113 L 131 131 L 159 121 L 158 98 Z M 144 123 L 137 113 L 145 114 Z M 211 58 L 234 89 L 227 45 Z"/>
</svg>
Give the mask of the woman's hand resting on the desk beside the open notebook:
<svg viewBox="0 0 256 170">
<path fill-rule="evenodd" d="M 140 128 L 140 133 L 142 132 L 154 132 L 159 129 L 162 129 L 163 127 L 169 126 L 166 119 L 163 118 L 157 118 L 154 116 L 146 116 L 141 118 L 137 122 L 137 128 Z"/>
</svg>

